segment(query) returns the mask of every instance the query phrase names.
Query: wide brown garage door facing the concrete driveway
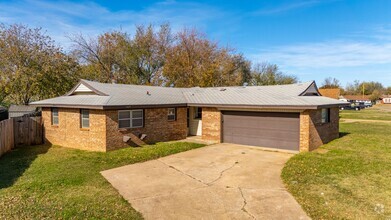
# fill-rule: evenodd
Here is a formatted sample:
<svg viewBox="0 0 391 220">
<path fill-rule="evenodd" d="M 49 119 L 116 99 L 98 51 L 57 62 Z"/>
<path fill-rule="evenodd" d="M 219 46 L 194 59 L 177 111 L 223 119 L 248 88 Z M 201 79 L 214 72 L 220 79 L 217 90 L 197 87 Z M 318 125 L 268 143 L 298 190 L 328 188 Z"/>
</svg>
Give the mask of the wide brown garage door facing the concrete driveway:
<svg viewBox="0 0 391 220">
<path fill-rule="evenodd" d="M 299 113 L 223 111 L 223 142 L 299 150 Z"/>
</svg>

